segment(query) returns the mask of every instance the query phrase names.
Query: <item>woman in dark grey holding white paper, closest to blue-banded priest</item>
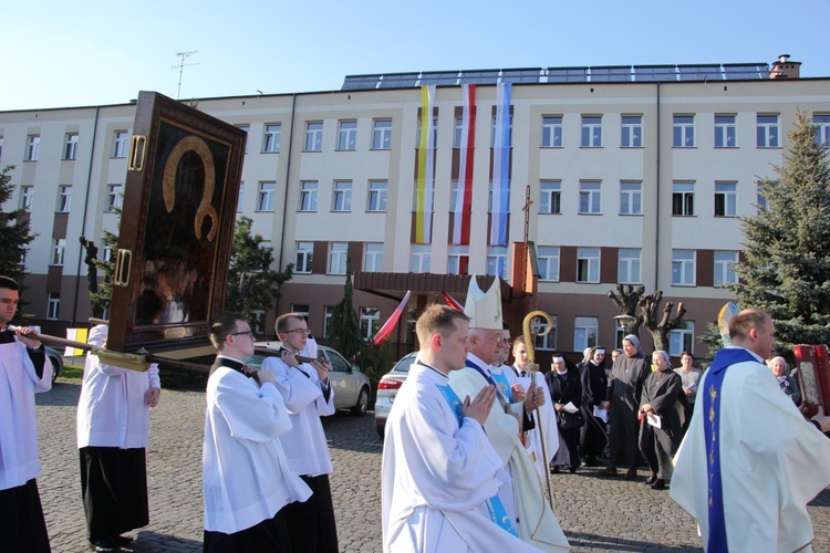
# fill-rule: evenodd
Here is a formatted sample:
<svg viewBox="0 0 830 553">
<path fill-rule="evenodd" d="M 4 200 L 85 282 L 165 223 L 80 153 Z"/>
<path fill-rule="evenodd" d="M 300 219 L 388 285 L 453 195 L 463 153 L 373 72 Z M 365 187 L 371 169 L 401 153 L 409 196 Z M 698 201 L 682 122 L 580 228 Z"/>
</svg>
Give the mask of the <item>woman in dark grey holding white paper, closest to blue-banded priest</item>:
<svg viewBox="0 0 830 553">
<path fill-rule="evenodd" d="M 668 354 L 662 349 L 654 352 L 652 363 L 655 369 L 645 379 L 640 400 L 640 450 L 652 471 L 645 483 L 653 490 L 665 490 L 689 409 L 683 380 L 672 371 Z"/>
</svg>

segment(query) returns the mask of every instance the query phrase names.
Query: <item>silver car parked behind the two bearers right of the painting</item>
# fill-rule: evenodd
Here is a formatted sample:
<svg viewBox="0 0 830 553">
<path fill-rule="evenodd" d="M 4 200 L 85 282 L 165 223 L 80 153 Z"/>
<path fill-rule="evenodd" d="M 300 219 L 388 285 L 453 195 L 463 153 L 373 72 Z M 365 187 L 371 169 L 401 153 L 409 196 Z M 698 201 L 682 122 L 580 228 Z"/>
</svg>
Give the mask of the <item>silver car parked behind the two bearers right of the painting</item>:
<svg viewBox="0 0 830 553">
<path fill-rule="evenodd" d="M 279 355 L 282 346 L 279 342 L 257 342 L 255 354 L 246 357 L 243 363 L 252 367 L 259 367 L 266 357 Z M 334 390 L 334 408 L 349 409 L 352 415 L 362 416 L 369 410 L 369 395 L 372 385 L 369 377 L 364 375 L 357 365 L 352 365 L 331 347 L 318 346 L 318 357 L 324 358 L 331 364 L 329 382 Z"/>
</svg>

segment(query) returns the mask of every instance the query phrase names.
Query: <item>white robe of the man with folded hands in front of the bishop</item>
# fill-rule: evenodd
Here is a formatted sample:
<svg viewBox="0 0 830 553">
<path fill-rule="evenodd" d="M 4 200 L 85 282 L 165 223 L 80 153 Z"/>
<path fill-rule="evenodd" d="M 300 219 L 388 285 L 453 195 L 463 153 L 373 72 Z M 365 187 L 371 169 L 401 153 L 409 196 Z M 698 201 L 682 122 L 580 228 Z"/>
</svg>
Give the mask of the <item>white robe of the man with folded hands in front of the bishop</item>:
<svg viewBox="0 0 830 553">
<path fill-rule="evenodd" d="M 504 461 L 475 419 L 459 427 L 439 388 L 447 384 L 414 363 L 386 420 L 384 551 L 537 551 L 490 520 L 485 502 L 502 483 Z"/>
</svg>

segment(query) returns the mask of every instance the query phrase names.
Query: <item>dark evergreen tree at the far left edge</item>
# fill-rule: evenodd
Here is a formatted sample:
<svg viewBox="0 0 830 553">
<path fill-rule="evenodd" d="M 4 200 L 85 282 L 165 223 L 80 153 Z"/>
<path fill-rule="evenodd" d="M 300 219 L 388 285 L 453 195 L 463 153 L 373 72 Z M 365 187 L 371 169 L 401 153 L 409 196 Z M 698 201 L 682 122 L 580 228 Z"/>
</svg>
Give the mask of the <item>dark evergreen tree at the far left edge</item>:
<svg viewBox="0 0 830 553">
<path fill-rule="evenodd" d="M 15 186 L 11 184 L 13 165 L 6 166 L 0 171 L 0 207 L 4 206 L 14 195 Z M 25 257 L 28 246 L 38 236 L 30 231 L 29 212 L 25 209 L 0 210 L 0 228 L 3 239 L 0 241 L 0 274 L 14 279 L 20 285 L 21 298 L 27 290 L 25 275 L 29 274 L 20 260 Z M 24 304 L 23 301 L 21 301 Z M 21 312 L 18 315 L 21 316 Z"/>
</svg>

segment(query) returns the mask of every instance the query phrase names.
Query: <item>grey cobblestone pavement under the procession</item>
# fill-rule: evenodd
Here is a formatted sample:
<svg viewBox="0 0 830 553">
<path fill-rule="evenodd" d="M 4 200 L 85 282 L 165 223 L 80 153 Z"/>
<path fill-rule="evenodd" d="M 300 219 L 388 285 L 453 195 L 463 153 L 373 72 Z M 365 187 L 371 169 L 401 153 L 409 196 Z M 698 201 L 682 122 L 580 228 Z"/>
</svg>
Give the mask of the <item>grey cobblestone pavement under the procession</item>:
<svg viewBox="0 0 830 553">
<path fill-rule="evenodd" d="M 75 446 L 80 385 L 58 382 L 38 395 L 41 476 L 46 524 L 56 552 L 86 550 Z M 201 551 L 201 392 L 165 390 L 153 411 L 147 472 L 151 523 L 132 532 L 131 551 Z M 381 551 L 381 448 L 372 415 L 324 419 L 334 460 L 332 493 L 341 551 Z M 553 476 L 556 512 L 574 551 L 701 551 L 693 520 L 667 492 L 606 480 L 595 469 Z M 815 551 L 830 551 L 830 490 L 809 507 Z"/>
</svg>

